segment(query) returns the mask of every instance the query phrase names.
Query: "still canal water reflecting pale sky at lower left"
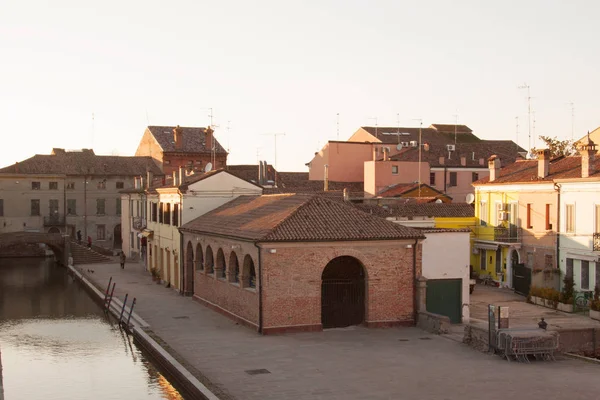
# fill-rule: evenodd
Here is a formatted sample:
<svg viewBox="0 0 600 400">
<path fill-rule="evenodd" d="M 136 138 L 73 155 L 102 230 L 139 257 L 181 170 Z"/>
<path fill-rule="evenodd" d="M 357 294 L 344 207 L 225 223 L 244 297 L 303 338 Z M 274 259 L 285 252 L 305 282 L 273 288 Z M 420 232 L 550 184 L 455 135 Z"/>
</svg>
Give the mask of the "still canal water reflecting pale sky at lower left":
<svg viewBox="0 0 600 400">
<path fill-rule="evenodd" d="M 183 399 L 50 259 L 0 258 L 0 400 Z"/>
</svg>

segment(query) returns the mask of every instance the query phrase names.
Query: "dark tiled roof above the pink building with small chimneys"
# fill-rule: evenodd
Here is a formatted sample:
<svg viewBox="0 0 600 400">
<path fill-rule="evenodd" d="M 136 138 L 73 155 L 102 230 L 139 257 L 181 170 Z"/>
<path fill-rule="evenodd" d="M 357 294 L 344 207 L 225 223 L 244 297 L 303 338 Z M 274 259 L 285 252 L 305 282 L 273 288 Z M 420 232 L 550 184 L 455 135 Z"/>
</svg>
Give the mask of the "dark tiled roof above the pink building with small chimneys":
<svg viewBox="0 0 600 400">
<path fill-rule="evenodd" d="M 423 141 L 423 143 L 427 143 Z M 447 144 L 454 144 L 447 143 Z M 487 160 L 493 154 L 500 158 L 504 165 L 513 163 L 521 158 L 519 152 L 525 150 L 511 140 L 482 140 L 477 143 L 457 143 L 455 151 L 448 152 L 447 144 L 429 144 L 429 150 L 421 151 L 421 160 L 429 162 L 431 167 L 464 167 L 464 168 L 487 168 Z M 448 158 L 450 155 L 450 158 Z M 443 164 L 440 157 L 444 157 Z M 462 164 L 464 157 L 465 164 Z M 418 147 L 407 147 L 400 153 L 390 157 L 392 161 L 419 161 Z M 483 164 L 481 161 L 483 160 Z"/>
</svg>

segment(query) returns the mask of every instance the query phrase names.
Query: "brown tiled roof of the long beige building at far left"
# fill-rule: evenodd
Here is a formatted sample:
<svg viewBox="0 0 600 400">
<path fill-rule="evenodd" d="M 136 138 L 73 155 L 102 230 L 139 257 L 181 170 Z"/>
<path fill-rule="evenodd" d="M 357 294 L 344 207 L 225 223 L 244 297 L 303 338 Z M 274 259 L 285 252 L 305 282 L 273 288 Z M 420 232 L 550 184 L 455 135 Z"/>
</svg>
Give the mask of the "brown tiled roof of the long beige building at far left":
<svg viewBox="0 0 600 400">
<path fill-rule="evenodd" d="M 163 175 L 151 157 L 97 156 L 93 150 L 65 151 L 53 149 L 52 154 L 36 154 L 19 163 L 0 169 L 0 172 L 22 174 L 66 175 Z"/>
</svg>

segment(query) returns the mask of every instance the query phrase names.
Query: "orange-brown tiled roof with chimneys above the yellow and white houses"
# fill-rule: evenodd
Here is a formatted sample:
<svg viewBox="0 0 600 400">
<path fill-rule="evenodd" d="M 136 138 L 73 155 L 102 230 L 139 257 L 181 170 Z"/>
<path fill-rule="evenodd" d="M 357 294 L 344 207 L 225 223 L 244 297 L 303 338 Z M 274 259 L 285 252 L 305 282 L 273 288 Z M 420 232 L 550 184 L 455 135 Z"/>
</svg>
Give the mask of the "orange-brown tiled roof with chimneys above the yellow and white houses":
<svg viewBox="0 0 600 400">
<path fill-rule="evenodd" d="M 600 176 L 600 157 L 596 156 L 594 162 L 596 173 L 593 177 Z M 473 185 L 497 184 L 497 183 L 535 183 L 550 182 L 554 179 L 581 178 L 581 156 L 559 157 L 550 161 L 548 176 L 538 177 L 538 160 L 520 160 L 514 164 L 500 169 L 500 175 L 493 182 L 489 177 L 482 178 Z"/>
</svg>

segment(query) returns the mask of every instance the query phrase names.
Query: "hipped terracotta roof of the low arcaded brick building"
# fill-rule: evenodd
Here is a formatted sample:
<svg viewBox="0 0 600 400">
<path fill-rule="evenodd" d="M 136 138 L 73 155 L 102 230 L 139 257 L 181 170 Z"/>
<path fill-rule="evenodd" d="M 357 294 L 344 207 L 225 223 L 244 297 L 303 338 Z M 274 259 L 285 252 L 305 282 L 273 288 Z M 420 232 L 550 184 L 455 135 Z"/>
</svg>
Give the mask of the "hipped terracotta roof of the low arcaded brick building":
<svg viewBox="0 0 600 400">
<path fill-rule="evenodd" d="M 415 229 L 366 214 L 351 205 L 301 194 L 240 196 L 181 227 L 263 242 L 423 238 Z"/>
</svg>

